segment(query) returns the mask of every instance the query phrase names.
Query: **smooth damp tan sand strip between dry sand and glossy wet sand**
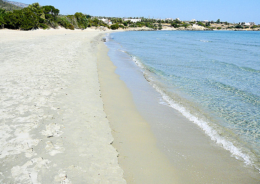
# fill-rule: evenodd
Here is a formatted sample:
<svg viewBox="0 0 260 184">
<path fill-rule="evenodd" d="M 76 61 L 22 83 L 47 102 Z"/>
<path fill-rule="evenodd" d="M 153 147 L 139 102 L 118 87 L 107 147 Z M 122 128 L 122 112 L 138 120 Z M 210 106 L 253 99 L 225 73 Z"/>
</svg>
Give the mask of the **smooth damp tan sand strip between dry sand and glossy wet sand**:
<svg viewBox="0 0 260 184">
<path fill-rule="evenodd" d="M 126 84 L 115 74 L 116 67 L 99 44 L 97 68 L 104 110 L 110 121 L 113 146 L 127 183 L 179 183 L 166 156 L 157 148 L 148 123 L 138 113 Z M 141 140 L 141 141 L 140 141 Z"/>
</svg>

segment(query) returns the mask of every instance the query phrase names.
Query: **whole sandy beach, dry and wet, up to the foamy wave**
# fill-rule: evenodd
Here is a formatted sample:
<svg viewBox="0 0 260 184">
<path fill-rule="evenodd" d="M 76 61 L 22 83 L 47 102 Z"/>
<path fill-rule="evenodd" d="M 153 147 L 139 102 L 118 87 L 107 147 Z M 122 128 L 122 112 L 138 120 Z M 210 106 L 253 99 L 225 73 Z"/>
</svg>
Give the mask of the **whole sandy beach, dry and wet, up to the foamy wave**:
<svg viewBox="0 0 260 184">
<path fill-rule="evenodd" d="M 180 113 L 155 112 L 144 97 L 137 106 L 108 56 L 109 32 L 0 30 L 0 183 L 258 183 L 257 171 Z M 176 127 L 160 132 L 162 120 Z M 160 134 L 189 156 L 168 156 Z"/>
</svg>

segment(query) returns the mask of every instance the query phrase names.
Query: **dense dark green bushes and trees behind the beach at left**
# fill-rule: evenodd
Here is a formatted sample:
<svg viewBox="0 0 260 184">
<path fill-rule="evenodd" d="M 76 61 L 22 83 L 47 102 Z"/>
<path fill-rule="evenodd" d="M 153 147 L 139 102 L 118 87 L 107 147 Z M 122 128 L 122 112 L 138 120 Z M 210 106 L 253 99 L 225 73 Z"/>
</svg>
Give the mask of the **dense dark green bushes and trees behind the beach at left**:
<svg viewBox="0 0 260 184">
<path fill-rule="evenodd" d="M 23 9 L 5 11 L 0 8 L 0 28 L 31 30 L 36 28 L 85 29 L 91 26 L 108 27 L 97 18 L 90 15 L 75 13 L 74 15 L 59 15 L 60 10 L 53 6 L 40 6 L 39 3 L 30 4 Z"/>
</svg>

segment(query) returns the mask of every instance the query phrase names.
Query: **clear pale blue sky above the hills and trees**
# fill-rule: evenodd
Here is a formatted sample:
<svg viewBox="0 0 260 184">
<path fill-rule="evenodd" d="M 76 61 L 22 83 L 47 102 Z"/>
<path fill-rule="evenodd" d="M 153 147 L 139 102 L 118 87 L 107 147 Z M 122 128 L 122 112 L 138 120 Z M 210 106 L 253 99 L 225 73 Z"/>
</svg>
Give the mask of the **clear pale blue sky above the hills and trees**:
<svg viewBox="0 0 260 184">
<path fill-rule="evenodd" d="M 13 0 L 21 3 L 52 5 L 61 14 L 87 13 L 106 17 L 180 18 L 255 22 L 260 24 L 260 0 Z"/>
</svg>

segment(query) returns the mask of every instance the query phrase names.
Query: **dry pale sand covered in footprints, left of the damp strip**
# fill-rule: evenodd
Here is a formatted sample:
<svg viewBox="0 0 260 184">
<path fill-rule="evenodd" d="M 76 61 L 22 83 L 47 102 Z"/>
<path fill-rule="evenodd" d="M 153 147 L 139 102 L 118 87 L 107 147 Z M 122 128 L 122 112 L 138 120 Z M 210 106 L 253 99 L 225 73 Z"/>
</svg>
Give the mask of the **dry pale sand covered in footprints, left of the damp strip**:
<svg viewBox="0 0 260 184">
<path fill-rule="evenodd" d="M 0 30 L 0 183 L 126 183 L 100 97 L 102 34 Z"/>
</svg>

